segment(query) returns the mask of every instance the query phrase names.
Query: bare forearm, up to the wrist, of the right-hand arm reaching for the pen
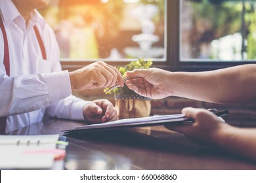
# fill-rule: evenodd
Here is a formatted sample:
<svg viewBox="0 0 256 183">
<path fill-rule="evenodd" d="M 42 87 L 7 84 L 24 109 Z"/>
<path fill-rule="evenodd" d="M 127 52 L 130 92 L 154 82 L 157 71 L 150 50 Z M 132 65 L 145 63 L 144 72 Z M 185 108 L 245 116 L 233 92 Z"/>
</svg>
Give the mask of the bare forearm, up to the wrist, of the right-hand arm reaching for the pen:
<svg viewBox="0 0 256 183">
<path fill-rule="evenodd" d="M 172 94 L 213 103 L 245 103 L 256 100 L 256 65 L 240 65 L 216 71 L 170 73 Z"/>
</svg>

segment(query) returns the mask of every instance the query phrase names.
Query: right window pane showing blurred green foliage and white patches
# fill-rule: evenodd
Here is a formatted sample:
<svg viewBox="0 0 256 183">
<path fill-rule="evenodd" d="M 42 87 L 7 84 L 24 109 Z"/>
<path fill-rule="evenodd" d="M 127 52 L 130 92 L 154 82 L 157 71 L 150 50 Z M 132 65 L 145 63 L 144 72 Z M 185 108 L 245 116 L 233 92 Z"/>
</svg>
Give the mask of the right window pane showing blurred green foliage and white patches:
<svg viewBox="0 0 256 183">
<path fill-rule="evenodd" d="M 255 10 L 255 0 L 181 0 L 181 61 L 256 59 Z"/>
</svg>

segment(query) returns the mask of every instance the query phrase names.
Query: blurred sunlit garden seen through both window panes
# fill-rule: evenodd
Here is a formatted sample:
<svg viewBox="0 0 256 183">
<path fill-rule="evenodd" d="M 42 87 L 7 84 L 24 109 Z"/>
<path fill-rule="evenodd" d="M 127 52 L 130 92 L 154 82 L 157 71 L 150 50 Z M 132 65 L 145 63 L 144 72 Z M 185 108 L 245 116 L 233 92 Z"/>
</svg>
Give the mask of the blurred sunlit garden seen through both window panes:
<svg viewBox="0 0 256 183">
<path fill-rule="evenodd" d="M 53 0 L 40 12 L 62 60 L 166 61 L 167 3 L 179 0 Z M 255 0 L 180 0 L 181 61 L 256 58 Z M 169 18 L 169 20 L 167 20 Z"/>
</svg>

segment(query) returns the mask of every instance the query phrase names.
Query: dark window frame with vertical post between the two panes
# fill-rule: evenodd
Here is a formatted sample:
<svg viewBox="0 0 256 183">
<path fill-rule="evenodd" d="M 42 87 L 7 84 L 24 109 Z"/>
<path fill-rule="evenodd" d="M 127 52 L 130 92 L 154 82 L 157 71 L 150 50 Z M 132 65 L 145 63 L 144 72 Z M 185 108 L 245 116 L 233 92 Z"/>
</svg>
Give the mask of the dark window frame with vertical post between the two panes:
<svg viewBox="0 0 256 183">
<path fill-rule="evenodd" d="M 242 61 L 181 61 L 180 59 L 180 12 L 181 12 L 181 0 L 166 1 L 166 61 L 153 62 L 152 67 L 158 67 L 167 71 L 210 71 L 214 69 L 222 69 L 225 67 L 232 67 L 235 65 L 244 65 L 248 63 L 256 63 L 256 60 L 242 60 Z M 100 60 L 100 59 L 98 59 Z M 74 71 L 89 65 L 93 61 L 62 61 L 62 69 L 68 69 Z M 129 63 L 129 61 L 106 61 L 106 63 L 113 66 L 123 66 Z"/>
</svg>

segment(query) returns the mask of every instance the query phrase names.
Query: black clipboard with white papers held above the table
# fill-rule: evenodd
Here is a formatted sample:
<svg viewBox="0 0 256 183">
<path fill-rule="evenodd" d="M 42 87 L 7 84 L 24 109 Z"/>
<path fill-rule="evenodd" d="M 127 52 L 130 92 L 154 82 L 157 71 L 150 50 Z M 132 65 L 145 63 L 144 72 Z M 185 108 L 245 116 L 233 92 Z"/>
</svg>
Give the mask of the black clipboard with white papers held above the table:
<svg viewBox="0 0 256 183">
<path fill-rule="evenodd" d="M 209 109 L 217 116 L 225 116 L 228 114 L 228 110 L 218 111 L 215 108 Z M 154 125 L 184 125 L 192 124 L 194 120 L 192 118 L 187 118 L 184 114 L 171 114 L 171 115 L 161 115 L 161 116 L 149 116 L 144 118 L 129 118 L 116 120 L 114 122 L 106 122 L 104 124 L 91 124 L 75 127 L 75 129 L 68 129 L 62 131 L 64 135 L 72 135 L 79 133 L 86 133 L 91 131 L 106 131 L 106 130 L 116 130 L 116 129 L 127 129 L 132 127 L 144 127 L 144 126 L 154 126 Z"/>
</svg>

